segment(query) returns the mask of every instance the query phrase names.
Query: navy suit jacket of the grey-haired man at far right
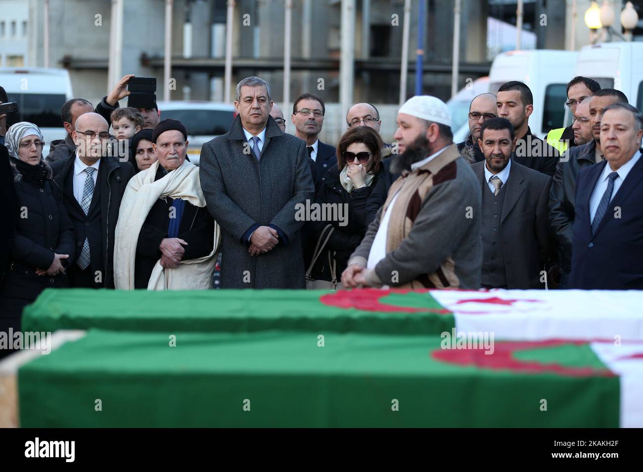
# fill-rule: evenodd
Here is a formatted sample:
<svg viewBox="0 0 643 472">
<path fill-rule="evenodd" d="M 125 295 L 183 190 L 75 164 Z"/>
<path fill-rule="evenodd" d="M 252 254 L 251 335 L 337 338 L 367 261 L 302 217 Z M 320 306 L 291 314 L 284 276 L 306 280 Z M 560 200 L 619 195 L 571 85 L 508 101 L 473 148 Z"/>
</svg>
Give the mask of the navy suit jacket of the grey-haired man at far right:
<svg viewBox="0 0 643 472">
<path fill-rule="evenodd" d="M 592 236 L 590 197 L 606 165 L 607 161 L 599 162 L 578 174 L 569 285 L 585 290 L 641 290 L 643 158 L 629 171 Z"/>
</svg>

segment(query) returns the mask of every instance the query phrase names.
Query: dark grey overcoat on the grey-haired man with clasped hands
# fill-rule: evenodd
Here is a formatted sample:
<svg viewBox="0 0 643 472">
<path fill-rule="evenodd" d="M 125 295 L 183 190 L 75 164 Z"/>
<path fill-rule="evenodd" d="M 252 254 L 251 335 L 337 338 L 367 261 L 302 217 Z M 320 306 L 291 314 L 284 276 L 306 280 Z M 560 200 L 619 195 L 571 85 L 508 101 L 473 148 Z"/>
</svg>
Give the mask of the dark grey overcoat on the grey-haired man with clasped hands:
<svg viewBox="0 0 643 472">
<path fill-rule="evenodd" d="M 305 288 L 303 221 L 294 219 L 295 205 L 314 198 L 305 141 L 282 133 L 269 117 L 259 161 L 244 153 L 246 142 L 237 116 L 227 134 L 201 150 L 201 188 L 221 225 L 221 288 Z M 281 234 L 275 249 L 250 256 L 245 236 L 255 225 Z"/>
</svg>

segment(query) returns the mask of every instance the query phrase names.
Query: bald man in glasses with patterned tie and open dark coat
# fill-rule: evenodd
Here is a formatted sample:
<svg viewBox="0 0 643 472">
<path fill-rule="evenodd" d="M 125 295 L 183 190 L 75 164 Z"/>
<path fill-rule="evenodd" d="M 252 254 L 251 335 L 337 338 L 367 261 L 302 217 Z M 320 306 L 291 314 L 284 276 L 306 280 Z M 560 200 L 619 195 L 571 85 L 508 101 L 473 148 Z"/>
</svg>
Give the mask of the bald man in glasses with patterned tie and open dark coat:
<svg viewBox="0 0 643 472">
<path fill-rule="evenodd" d="M 98 113 L 79 116 L 71 137 L 75 157 L 51 165 L 76 230 L 76 263 L 68 269 L 69 285 L 113 288 L 114 231 L 134 168 L 127 161 L 102 158 L 110 135 Z"/>
</svg>

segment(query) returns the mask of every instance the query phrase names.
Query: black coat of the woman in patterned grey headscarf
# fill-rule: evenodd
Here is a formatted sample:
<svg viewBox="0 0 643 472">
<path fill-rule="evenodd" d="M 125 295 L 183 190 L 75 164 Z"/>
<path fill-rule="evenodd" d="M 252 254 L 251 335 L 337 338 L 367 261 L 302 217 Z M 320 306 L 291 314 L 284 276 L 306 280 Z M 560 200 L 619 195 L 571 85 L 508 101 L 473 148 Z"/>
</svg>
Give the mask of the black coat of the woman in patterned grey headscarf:
<svg viewBox="0 0 643 472">
<path fill-rule="evenodd" d="M 12 165 L 17 202 L 7 207 L 16 216 L 10 266 L 0 294 L 0 331 L 19 329 L 26 304 L 48 287 L 64 287 L 67 275 L 36 275 L 37 268 L 47 270 L 55 254 L 69 254 L 61 261 L 69 267 L 75 261 L 74 229 L 65 209 L 62 193 L 51 180 L 39 188 L 22 179 Z"/>
</svg>

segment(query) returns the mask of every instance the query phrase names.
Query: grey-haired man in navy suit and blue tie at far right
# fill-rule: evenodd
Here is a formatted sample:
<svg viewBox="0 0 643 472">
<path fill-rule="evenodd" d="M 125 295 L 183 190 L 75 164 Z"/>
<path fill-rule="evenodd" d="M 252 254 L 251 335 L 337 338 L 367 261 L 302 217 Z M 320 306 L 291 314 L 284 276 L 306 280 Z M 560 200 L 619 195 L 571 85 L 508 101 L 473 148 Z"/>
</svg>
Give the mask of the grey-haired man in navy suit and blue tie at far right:
<svg viewBox="0 0 643 472">
<path fill-rule="evenodd" d="M 643 289 L 643 116 L 628 103 L 601 119 L 605 160 L 578 174 L 570 288 Z"/>
</svg>

